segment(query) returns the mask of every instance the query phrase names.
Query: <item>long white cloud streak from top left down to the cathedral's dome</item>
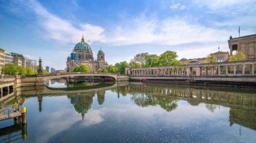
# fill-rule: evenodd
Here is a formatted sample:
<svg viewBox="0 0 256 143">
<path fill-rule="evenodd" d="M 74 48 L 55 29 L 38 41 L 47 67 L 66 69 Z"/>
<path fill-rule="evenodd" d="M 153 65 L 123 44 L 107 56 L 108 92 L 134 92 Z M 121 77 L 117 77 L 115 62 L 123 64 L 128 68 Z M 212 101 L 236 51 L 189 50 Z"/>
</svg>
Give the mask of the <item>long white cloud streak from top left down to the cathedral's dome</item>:
<svg viewBox="0 0 256 143">
<path fill-rule="evenodd" d="M 85 34 L 87 42 L 96 42 L 104 38 L 104 29 L 100 26 L 94 26 L 89 23 L 80 23 L 79 26 L 75 26 L 71 21 L 57 17 L 53 15 L 47 9 L 45 9 L 38 1 L 30 0 L 26 2 L 16 1 L 20 4 L 20 8 L 24 11 L 31 11 L 36 15 L 36 22 L 43 29 L 45 38 L 57 40 L 64 43 L 77 43 L 77 40 L 82 38 L 82 34 Z M 16 5 L 17 3 L 13 4 Z M 12 7 L 13 8 L 13 7 Z M 16 8 L 12 10 L 16 13 L 20 12 L 20 9 Z"/>
</svg>

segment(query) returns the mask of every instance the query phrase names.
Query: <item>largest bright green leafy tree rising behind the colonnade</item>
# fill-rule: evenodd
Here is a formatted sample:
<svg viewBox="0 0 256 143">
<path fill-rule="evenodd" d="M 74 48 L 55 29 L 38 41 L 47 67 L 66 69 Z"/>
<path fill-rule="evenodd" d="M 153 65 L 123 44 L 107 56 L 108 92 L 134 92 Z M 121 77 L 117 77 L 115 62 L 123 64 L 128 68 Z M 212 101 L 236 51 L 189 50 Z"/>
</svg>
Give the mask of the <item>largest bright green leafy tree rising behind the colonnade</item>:
<svg viewBox="0 0 256 143">
<path fill-rule="evenodd" d="M 160 64 L 160 66 L 181 65 L 182 62 L 178 61 L 177 58 L 178 58 L 178 55 L 176 52 L 167 50 L 163 54 L 160 54 L 158 62 Z"/>
</svg>

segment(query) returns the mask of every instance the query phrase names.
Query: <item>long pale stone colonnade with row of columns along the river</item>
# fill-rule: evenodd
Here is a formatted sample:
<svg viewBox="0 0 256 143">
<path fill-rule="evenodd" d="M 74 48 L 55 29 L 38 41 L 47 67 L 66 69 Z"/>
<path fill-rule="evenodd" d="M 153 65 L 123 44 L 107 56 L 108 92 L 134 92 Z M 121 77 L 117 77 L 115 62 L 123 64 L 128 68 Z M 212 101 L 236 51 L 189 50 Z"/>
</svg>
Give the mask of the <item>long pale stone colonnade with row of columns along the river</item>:
<svg viewBox="0 0 256 143">
<path fill-rule="evenodd" d="M 131 76 L 255 76 L 256 60 L 148 68 L 125 68 Z"/>
</svg>

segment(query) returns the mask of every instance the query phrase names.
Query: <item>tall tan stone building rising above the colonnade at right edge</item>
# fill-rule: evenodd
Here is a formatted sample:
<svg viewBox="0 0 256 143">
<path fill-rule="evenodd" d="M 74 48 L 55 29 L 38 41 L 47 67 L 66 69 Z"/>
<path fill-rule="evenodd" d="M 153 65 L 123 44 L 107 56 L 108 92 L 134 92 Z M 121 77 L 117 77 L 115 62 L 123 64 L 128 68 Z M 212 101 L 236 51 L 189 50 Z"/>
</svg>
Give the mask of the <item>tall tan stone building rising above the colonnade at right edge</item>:
<svg viewBox="0 0 256 143">
<path fill-rule="evenodd" d="M 232 38 L 228 40 L 230 55 L 236 52 L 245 54 L 247 60 L 256 58 L 256 34 Z"/>
</svg>

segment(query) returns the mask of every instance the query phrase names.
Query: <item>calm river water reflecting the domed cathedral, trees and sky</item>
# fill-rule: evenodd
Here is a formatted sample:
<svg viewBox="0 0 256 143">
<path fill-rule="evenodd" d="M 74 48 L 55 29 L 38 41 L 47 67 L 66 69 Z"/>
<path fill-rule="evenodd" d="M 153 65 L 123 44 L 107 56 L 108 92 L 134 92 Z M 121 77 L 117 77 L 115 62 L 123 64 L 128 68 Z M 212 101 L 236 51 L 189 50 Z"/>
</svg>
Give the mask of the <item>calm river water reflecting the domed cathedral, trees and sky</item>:
<svg viewBox="0 0 256 143">
<path fill-rule="evenodd" d="M 0 142 L 256 142 L 256 91 L 150 83 L 68 83 L 1 97 L 28 124 L 0 122 Z M 9 96 L 9 97 L 8 97 Z"/>
</svg>

